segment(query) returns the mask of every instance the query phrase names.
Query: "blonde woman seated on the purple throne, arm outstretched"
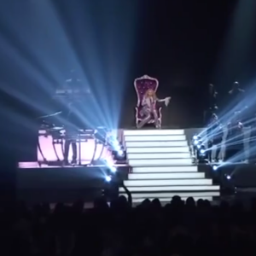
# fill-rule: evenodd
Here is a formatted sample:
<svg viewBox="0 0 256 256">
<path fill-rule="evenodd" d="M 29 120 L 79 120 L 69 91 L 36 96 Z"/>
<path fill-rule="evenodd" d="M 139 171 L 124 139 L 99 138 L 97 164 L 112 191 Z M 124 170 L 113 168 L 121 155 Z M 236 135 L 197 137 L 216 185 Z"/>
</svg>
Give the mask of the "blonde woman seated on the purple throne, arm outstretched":
<svg viewBox="0 0 256 256">
<path fill-rule="evenodd" d="M 160 128 L 160 122 L 158 119 L 158 115 L 156 112 L 156 102 L 165 102 L 166 107 L 169 105 L 169 102 L 171 100 L 171 97 L 166 97 L 165 99 L 158 99 L 155 95 L 154 90 L 148 89 L 143 96 L 143 109 L 141 111 L 141 114 L 145 116 L 145 118 L 137 125 L 137 128 L 142 128 L 144 125 L 148 123 L 148 121 L 151 119 L 151 115 L 154 116 L 154 125 L 156 128 Z"/>
</svg>

